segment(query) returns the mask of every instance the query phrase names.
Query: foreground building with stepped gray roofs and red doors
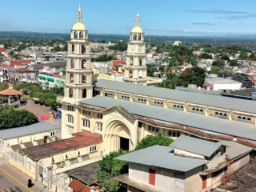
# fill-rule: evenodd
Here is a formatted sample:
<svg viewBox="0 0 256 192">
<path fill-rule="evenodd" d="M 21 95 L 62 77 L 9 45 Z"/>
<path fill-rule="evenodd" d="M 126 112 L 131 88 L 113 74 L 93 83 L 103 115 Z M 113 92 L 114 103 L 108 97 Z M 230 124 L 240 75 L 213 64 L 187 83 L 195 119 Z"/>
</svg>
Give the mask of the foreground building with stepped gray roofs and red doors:
<svg viewBox="0 0 256 192">
<path fill-rule="evenodd" d="M 129 162 L 129 174 L 117 179 L 129 192 L 208 191 L 246 166 L 251 150 L 234 142 L 182 135 L 170 146 L 151 146 L 116 158 Z"/>
</svg>

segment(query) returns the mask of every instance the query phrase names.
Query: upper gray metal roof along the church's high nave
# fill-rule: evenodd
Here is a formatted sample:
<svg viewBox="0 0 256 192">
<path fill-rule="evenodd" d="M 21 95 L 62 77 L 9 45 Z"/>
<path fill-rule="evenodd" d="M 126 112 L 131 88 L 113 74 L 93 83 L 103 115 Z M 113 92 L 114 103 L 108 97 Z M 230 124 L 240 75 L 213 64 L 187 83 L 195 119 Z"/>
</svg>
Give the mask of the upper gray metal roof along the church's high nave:
<svg viewBox="0 0 256 192">
<path fill-rule="evenodd" d="M 256 114 L 256 102 L 239 98 L 227 98 L 218 95 L 194 93 L 183 90 L 171 90 L 154 86 L 135 85 L 126 82 L 114 82 L 99 79 L 94 86 L 108 90 L 117 90 L 130 94 L 141 94 L 154 98 L 171 99 L 178 102 L 190 102 L 204 106 L 214 106 L 226 110 L 238 110 Z"/>
</svg>

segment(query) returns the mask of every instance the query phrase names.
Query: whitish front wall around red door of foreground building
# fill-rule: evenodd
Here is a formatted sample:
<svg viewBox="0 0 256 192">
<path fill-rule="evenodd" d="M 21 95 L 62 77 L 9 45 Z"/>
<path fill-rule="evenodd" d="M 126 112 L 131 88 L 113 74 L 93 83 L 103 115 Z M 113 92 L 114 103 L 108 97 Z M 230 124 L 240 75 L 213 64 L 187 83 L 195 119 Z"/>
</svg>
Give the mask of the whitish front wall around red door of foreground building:
<svg viewBox="0 0 256 192">
<path fill-rule="evenodd" d="M 129 178 L 136 182 L 149 184 L 149 170 L 155 170 L 155 189 L 166 192 L 183 192 L 184 191 L 184 174 L 174 172 L 154 166 L 145 166 L 140 164 L 129 163 Z"/>
</svg>

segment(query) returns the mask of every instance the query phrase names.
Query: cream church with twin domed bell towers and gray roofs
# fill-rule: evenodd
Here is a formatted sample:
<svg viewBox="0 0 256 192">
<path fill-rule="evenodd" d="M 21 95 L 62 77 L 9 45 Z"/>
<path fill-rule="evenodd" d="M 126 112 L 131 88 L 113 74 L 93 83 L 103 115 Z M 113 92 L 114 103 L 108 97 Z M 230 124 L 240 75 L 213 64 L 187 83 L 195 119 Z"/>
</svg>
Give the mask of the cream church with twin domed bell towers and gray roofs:
<svg viewBox="0 0 256 192">
<path fill-rule="evenodd" d="M 89 131 L 102 135 L 102 154 L 134 150 L 147 135 L 181 134 L 210 141 L 256 142 L 256 103 L 146 85 L 144 34 L 139 15 L 130 33 L 125 82 L 92 82 L 90 42 L 78 10 L 68 42 L 62 138 Z"/>
</svg>

